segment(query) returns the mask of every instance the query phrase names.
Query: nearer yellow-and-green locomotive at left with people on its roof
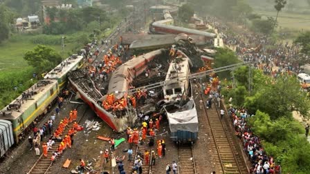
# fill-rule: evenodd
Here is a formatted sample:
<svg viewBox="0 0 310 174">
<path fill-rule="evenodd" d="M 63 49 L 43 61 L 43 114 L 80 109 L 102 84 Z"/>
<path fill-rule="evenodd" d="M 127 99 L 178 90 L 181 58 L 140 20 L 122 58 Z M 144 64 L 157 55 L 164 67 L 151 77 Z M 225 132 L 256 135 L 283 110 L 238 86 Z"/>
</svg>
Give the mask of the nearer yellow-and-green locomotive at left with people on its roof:
<svg viewBox="0 0 310 174">
<path fill-rule="evenodd" d="M 15 142 L 18 143 L 30 124 L 47 113 L 48 106 L 56 99 L 60 88 L 57 80 L 41 80 L 34 84 L 1 110 L 0 119 L 12 122 Z"/>
</svg>

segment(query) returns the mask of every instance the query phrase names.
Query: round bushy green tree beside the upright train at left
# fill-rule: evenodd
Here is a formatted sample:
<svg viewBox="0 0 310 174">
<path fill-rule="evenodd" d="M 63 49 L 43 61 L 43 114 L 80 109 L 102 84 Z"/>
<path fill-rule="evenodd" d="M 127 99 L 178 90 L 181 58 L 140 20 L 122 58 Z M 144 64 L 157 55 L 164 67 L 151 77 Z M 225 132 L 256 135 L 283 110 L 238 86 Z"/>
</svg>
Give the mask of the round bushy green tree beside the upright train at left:
<svg viewBox="0 0 310 174">
<path fill-rule="evenodd" d="M 53 50 L 53 48 L 42 45 L 38 45 L 33 50 L 26 52 L 24 59 L 38 73 L 49 71 L 62 61 L 60 54 Z"/>
</svg>

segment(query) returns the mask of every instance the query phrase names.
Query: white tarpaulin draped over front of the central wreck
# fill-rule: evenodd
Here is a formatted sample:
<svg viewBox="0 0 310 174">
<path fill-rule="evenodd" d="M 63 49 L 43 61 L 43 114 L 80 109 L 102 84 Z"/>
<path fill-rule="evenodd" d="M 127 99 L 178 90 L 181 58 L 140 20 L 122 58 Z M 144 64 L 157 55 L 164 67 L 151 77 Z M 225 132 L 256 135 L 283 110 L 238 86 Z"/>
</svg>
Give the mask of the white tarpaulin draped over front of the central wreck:
<svg viewBox="0 0 310 174">
<path fill-rule="evenodd" d="M 197 111 L 194 106 L 194 101 L 191 99 L 188 101 L 183 108 L 188 108 L 187 110 L 182 110 L 176 113 L 168 113 L 167 118 L 170 124 L 170 131 L 172 133 L 176 131 L 189 131 L 192 133 L 197 133 L 198 131 L 198 117 Z"/>
</svg>

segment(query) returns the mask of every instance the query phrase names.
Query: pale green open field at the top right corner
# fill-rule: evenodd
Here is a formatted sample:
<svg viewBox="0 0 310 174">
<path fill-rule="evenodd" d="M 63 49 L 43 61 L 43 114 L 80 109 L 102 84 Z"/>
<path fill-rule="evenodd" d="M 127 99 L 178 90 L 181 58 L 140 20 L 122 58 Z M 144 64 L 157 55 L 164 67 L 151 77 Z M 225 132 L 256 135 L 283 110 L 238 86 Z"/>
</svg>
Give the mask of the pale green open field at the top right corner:
<svg viewBox="0 0 310 174">
<path fill-rule="evenodd" d="M 266 17 L 275 17 L 277 12 L 256 11 Z M 280 12 L 277 17 L 279 27 L 291 30 L 310 30 L 310 14 L 296 14 L 291 12 Z"/>
</svg>

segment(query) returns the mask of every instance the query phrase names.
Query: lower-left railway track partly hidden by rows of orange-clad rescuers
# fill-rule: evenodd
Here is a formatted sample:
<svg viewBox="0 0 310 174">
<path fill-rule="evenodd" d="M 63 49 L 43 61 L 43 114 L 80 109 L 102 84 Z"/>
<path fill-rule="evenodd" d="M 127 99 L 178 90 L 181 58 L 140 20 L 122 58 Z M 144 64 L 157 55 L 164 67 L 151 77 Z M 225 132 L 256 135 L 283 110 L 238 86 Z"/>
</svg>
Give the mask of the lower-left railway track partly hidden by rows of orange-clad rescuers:
<svg viewBox="0 0 310 174">
<path fill-rule="evenodd" d="M 80 123 L 82 117 L 84 117 L 88 106 L 86 105 L 82 105 L 82 106 L 78 106 L 77 110 L 78 110 L 78 115 L 77 115 L 77 122 Z M 73 122 L 68 124 L 68 126 L 64 129 L 64 132 L 62 133 L 62 135 L 67 135 L 69 130 L 73 127 Z M 37 160 L 37 162 L 35 162 L 35 164 L 30 168 L 30 171 L 28 172 L 28 174 L 45 174 L 48 172 L 48 170 L 51 168 L 53 162 L 51 162 L 51 156 L 53 151 L 55 151 L 55 149 L 57 149 L 57 147 L 60 145 L 60 142 L 55 142 L 55 144 L 53 144 L 52 148 L 48 150 L 48 157 L 44 157 L 43 153 L 42 155 L 39 157 L 39 159 Z"/>
</svg>

